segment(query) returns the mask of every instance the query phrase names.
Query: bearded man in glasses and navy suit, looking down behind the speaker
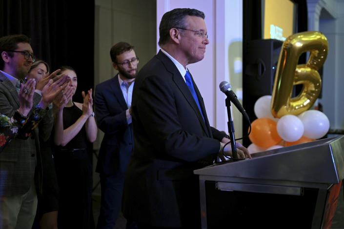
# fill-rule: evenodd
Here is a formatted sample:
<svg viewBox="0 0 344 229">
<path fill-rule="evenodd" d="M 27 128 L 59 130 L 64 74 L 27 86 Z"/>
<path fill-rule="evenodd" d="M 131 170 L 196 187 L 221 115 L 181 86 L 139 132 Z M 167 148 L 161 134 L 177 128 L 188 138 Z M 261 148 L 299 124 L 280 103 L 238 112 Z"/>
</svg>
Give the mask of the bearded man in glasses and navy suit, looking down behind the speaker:
<svg viewBox="0 0 344 229">
<path fill-rule="evenodd" d="M 104 132 L 96 172 L 101 177 L 101 211 L 97 229 L 113 229 L 121 210 L 124 173 L 134 147 L 131 96 L 139 58 L 126 42 L 110 50 L 118 74 L 96 86 L 98 127 Z M 127 225 L 130 222 L 127 223 Z"/>
</svg>

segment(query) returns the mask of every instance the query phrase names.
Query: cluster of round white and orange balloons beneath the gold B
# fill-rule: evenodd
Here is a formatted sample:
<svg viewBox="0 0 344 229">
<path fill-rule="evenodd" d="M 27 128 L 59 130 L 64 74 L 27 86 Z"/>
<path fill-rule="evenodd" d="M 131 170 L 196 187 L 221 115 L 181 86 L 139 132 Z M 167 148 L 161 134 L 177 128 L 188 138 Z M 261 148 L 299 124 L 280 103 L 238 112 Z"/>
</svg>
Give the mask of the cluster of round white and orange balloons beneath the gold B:
<svg viewBox="0 0 344 229">
<path fill-rule="evenodd" d="M 251 124 L 252 132 L 248 146 L 250 153 L 262 152 L 314 141 L 327 134 L 330 122 L 317 110 L 308 110 L 300 115 L 284 115 L 275 118 L 270 110 L 271 95 L 260 97 L 254 105 L 257 119 Z"/>
</svg>

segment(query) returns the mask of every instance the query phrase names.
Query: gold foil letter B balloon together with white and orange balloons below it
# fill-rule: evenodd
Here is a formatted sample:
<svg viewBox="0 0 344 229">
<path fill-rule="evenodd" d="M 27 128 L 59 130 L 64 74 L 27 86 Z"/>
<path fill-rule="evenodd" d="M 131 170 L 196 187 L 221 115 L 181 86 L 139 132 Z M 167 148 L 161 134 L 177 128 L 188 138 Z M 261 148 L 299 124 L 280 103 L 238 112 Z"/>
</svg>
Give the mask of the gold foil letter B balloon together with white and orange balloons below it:
<svg viewBox="0 0 344 229">
<path fill-rule="evenodd" d="M 299 57 L 309 52 L 306 64 Z M 258 119 L 251 124 L 248 146 L 251 153 L 305 143 L 323 137 L 329 130 L 327 116 L 308 110 L 318 98 L 321 77 L 318 70 L 327 57 L 328 42 L 324 34 L 307 31 L 289 36 L 283 42 L 276 69 L 272 95 L 260 97 L 254 112 Z M 302 84 L 297 97 L 293 86 Z"/>
</svg>

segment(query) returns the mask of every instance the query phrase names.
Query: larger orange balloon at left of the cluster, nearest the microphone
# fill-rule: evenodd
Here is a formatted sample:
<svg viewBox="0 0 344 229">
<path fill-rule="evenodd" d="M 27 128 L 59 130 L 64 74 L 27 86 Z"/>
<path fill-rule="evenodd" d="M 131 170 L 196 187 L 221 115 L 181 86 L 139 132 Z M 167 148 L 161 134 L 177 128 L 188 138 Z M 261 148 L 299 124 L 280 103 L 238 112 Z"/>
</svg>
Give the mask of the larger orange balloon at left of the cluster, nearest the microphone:
<svg viewBox="0 0 344 229">
<path fill-rule="evenodd" d="M 270 118 L 258 118 L 251 123 L 252 131 L 248 137 L 259 147 L 277 145 L 282 138 L 278 135 L 276 126 L 276 122 Z"/>
</svg>

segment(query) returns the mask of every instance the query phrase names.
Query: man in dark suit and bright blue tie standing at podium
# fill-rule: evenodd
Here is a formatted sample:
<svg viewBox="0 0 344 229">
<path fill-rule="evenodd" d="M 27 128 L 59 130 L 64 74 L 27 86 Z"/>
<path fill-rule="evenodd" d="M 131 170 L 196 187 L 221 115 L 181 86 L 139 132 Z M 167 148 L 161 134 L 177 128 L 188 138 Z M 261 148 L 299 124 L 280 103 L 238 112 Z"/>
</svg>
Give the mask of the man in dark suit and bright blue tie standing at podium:
<svg viewBox="0 0 344 229">
<path fill-rule="evenodd" d="M 124 216 L 140 228 L 200 228 L 198 177 L 229 141 L 209 126 L 202 96 L 186 65 L 203 59 L 209 43 L 204 14 L 163 15 L 162 48 L 139 72 L 132 118 L 135 147 L 124 184 Z M 224 148 L 231 155 L 230 145 Z M 238 157 L 250 157 L 238 145 Z"/>
</svg>

